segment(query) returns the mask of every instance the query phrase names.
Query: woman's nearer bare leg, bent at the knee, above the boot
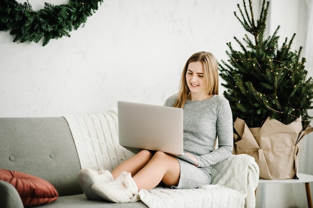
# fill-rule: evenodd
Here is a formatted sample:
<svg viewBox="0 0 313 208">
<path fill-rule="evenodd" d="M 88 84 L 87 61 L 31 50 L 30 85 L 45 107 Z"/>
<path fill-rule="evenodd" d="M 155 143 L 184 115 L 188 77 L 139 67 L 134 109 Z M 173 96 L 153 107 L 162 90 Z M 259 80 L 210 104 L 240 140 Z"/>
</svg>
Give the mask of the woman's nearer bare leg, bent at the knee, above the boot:
<svg viewBox="0 0 313 208">
<path fill-rule="evenodd" d="M 156 152 L 132 178 L 138 190 L 149 190 L 156 187 L 161 181 L 166 186 L 175 186 L 178 184 L 179 176 L 180 166 L 177 159 L 163 152 Z"/>
</svg>

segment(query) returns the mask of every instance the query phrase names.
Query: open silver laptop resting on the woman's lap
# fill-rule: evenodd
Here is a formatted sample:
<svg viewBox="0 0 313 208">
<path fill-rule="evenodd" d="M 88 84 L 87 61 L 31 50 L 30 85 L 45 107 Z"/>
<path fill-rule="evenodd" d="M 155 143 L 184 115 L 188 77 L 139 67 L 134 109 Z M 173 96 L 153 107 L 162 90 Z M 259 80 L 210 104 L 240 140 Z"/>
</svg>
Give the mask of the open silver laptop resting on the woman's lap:
<svg viewBox="0 0 313 208">
<path fill-rule="evenodd" d="M 181 108 L 126 101 L 117 102 L 118 142 L 133 153 L 162 151 L 195 164 L 183 153 Z"/>
</svg>

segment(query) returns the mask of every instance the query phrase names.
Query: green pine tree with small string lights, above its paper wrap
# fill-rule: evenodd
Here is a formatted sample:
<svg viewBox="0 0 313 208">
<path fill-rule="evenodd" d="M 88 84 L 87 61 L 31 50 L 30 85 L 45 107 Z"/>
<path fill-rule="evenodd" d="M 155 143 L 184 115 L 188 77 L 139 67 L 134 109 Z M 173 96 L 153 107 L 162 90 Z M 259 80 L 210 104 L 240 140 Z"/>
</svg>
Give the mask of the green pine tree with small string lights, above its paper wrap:
<svg viewBox="0 0 313 208">
<path fill-rule="evenodd" d="M 311 119 L 308 110 L 313 108 L 313 81 L 307 77 L 302 47 L 291 50 L 295 34 L 279 46 L 279 26 L 265 37 L 268 1 L 263 0 L 257 20 L 251 0 L 249 5 L 242 2 L 243 8 L 237 4 L 240 15 L 234 15 L 248 33 L 243 42 L 234 37 L 239 50 L 227 43 L 229 59 L 219 63 L 220 76 L 225 81 L 224 96 L 229 100 L 233 119 L 260 127 L 267 117 L 283 124 L 301 117 L 304 129 Z"/>
</svg>

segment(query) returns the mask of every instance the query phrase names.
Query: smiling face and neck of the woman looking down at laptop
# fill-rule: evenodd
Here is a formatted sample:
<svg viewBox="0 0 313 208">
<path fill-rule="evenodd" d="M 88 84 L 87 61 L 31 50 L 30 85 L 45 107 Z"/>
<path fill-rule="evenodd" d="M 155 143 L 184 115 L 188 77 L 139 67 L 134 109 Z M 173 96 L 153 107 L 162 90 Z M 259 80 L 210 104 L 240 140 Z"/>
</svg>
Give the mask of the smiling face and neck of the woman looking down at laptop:
<svg viewBox="0 0 313 208">
<path fill-rule="evenodd" d="M 191 100 L 207 98 L 203 64 L 200 61 L 190 62 L 186 71 L 186 83 L 190 90 Z"/>
</svg>

